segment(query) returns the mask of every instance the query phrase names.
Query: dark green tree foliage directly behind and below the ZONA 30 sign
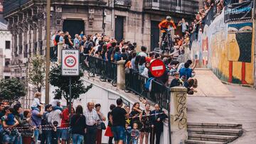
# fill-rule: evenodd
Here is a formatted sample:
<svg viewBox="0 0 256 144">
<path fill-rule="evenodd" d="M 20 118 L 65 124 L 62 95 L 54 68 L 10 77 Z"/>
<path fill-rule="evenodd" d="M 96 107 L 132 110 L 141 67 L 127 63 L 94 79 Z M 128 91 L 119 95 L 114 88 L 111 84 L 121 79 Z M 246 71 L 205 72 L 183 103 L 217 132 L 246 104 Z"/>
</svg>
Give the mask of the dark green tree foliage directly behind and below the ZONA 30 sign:
<svg viewBox="0 0 256 144">
<path fill-rule="evenodd" d="M 82 83 L 81 77 L 83 76 L 83 72 L 80 69 L 80 74 L 78 77 L 72 77 L 71 80 L 71 92 L 72 99 L 78 99 L 80 94 L 85 94 L 89 89 L 92 88 L 92 84 L 85 87 Z M 67 100 L 69 98 L 69 77 L 65 77 L 61 75 L 61 65 L 55 65 L 51 68 L 49 73 L 49 82 L 54 87 L 58 87 L 55 89 L 55 99 L 61 99 L 62 96 Z"/>
</svg>

